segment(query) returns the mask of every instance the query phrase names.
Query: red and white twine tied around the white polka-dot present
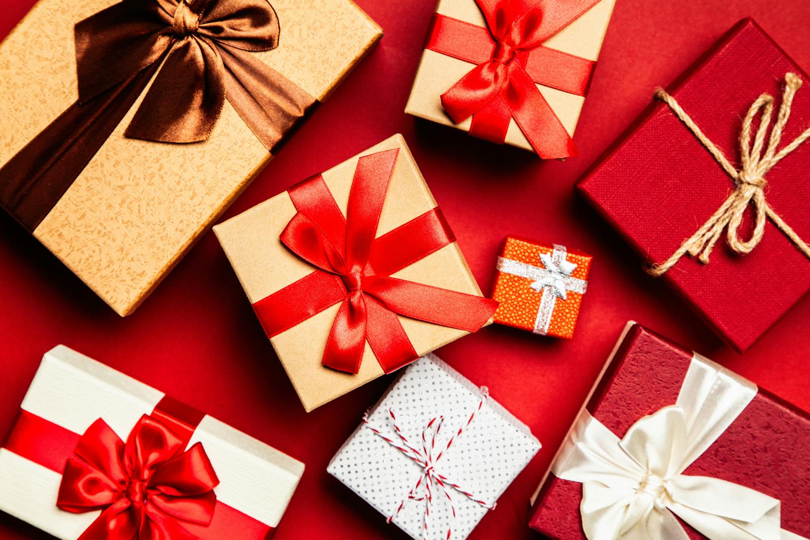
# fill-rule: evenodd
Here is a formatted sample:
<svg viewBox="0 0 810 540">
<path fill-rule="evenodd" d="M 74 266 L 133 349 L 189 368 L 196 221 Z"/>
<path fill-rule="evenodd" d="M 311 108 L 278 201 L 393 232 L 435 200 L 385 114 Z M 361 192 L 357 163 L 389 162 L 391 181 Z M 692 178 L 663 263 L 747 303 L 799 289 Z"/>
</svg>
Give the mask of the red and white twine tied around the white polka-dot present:
<svg viewBox="0 0 810 540">
<path fill-rule="evenodd" d="M 450 522 L 450 526 L 447 529 L 447 539 L 450 540 L 450 535 L 453 533 L 453 525 L 456 520 L 456 511 L 455 506 L 453 504 L 453 497 L 450 495 L 450 489 L 458 491 L 458 493 L 467 497 L 467 499 L 471 500 L 476 504 L 480 504 L 484 508 L 488 510 L 492 510 L 495 508 L 495 503 L 488 504 L 484 500 L 480 500 L 475 495 L 473 495 L 470 491 L 463 489 L 463 487 L 459 486 L 457 483 L 451 482 L 444 474 L 441 474 L 437 471 L 437 463 L 441 459 L 441 457 L 450 449 L 450 446 L 453 444 L 453 441 L 461 436 L 463 430 L 468 427 L 472 423 L 472 419 L 475 418 L 475 415 L 481 410 L 481 407 L 484 406 L 484 402 L 487 400 L 489 393 L 485 387 L 481 388 L 481 392 L 483 394 L 481 401 L 479 402 L 478 406 L 475 407 L 475 410 L 472 411 L 470 417 L 467 419 L 467 423 L 464 423 L 463 426 L 458 428 L 458 432 L 455 432 L 453 436 L 450 437 L 450 440 L 447 441 L 447 444 L 443 449 L 436 453 L 436 440 L 441 432 L 441 427 L 444 424 L 445 417 L 443 415 L 435 416 L 430 422 L 422 430 L 422 444 L 421 449 L 417 449 L 414 444 L 407 439 L 405 434 L 399 428 L 399 424 L 397 423 L 397 417 L 394 415 L 394 410 L 389 409 L 388 414 L 390 415 L 391 424 L 394 427 L 394 432 L 396 432 L 397 436 L 399 437 L 399 442 L 397 440 L 391 439 L 388 436 L 385 436 L 380 430 L 376 427 L 373 427 L 369 423 L 368 413 L 363 415 L 363 422 L 365 423 L 365 427 L 368 427 L 372 432 L 374 432 L 377 436 L 379 436 L 382 440 L 385 440 L 386 443 L 393 446 L 395 449 L 398 449 L 399 452 L 405 454 L 406 457 L 414 461 L 416 465 L 420 466 L 422 469 L 422 474 L 420 474 L 419 479 L 416 481 L 416 485 L 411 488 L 411 491 L 405 496 L 403 501 L 399 504 L 396 511 L 388 517 L 388 523 L 394 519 L 394 517 L 399 514 L 399 512 L 403 509 L 405 504 L 409 500 L 416 500 L 416 501 L 425 501 L 424 507 L 424 540 L 428 540 L 428 521 L 430 518 L 430 508 L 433 504 L 433 492 L 438 489 L 444 493 L 445 497 L 450 504 L 450 511 L 453 513 L 453 521 Z M 424 486 L 424 495 L 416 495 L 419 491 L 420 487 Z"/>
</svg>

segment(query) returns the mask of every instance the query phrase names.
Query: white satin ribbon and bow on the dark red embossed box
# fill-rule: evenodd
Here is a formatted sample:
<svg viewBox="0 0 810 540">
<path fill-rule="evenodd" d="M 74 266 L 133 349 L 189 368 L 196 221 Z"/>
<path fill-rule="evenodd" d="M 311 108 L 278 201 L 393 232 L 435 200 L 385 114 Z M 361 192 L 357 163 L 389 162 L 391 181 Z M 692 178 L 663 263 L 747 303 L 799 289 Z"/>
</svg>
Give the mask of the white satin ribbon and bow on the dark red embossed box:
<svg viewBox="0 0 810 540">
<path fill-rule="evenodd" d="M 781 529 L 773 497 L 683 474 L 756 395 L 756 385 L 695 355 L 676 405 L 640 419 L 622 440 L 583 410 L 552 472 L 582 483 L 586 537 L 689 540 L 677 516 L 710 540 L 807 540 Z"/>
</svg>

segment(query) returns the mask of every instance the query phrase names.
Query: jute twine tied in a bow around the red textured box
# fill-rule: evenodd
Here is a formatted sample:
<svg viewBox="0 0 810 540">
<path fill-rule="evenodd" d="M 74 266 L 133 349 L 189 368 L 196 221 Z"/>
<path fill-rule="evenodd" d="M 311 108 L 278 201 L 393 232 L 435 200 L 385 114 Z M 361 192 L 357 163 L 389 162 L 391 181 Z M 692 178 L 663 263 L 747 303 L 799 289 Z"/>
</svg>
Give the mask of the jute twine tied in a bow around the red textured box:
<svg viewBox="0 0 810 540">
<path fill-rule="evenodd" d="M 697 257 L 698 261 L 703 264 L 708 264 L 709 256 L 714 249 L 714 244 L 717 243 L 720 235 L 723 234 L 723 229 L 727 228 L 728 244 L 736 253 L 750 253 L 752 249 L 756 248 L 762 240 L 765 233 L 765 218 L 770 218 L 779 229 L 787 235 L 788 238 L 804 253 L 805 256 L 810 258 L 810 246 L 799 238 L 799 235 L 791 228 L 790 225 L 779 217 L 779 215 L 770 207 L 768 202 L 765 201 L 765 175 L 770 172 L 772 168 L 779 161 L 795 151 L 802 143 L 810 138 L 810 128 L 795 138 L 793 142 L 788 144 L 782 150 L 778 151 L 776 148 L 779 141 L 782 139 L 782 130 L 787 124 L 788 118 L 791 116 L 791 105 L 793 104 L 793 97 L 799 87 L 802 86 L 802 80 L 799 76 L 793 73 L 785 75 L 785 90 L 782 94 L 782 105 L 779 108 L 779 114 L 774 125 L 773 130 L 770 132 L 770 140 L 768 147 L 765 149 L 765 155 L 762 154 L 762 149 L 765 146 L 765 135 L 767 134 L 770 126 L 771 115 L 774 112 L 774 96 L 770 94 L 762 94 L 748 109 L 748 114 L 743 121 L 743 129 L 740 133 L 740 169 L 736 169 L 729 163 L 726 156 L 723 154 L 714 142 L 711 142 L 706 137 L 700 127 L 689 117 L 689 114 L 684 112 L 676 99 L 663 88 L 655 91 L 655 97 L 662 100 L 669 105 L 672 112 L 676 114 L 680 121 L 684 122 L 689 130 L 697 137 L 697 140 L 710 151 L 718 164 L 731 176 L 734 181 L 735 188 L 731 191 L 728 198 L 714 214 L 703 223 L 693 236 L 684 240 L 672 256 L 660 265 L 648 267 L 648 273 L 658 277 L 667 270 L 675 266 L 680 257 L 689 253 L 692 257 Z M 751 146 L 751 131 L 752 124 L 757 114 L 761 112 L 761 121 L 757 129 L 757 135 L 754 137 L 753 147 Z M 738 236 L 738 229 L 740 223 L 743 221 L 743 214 L 748 205 L 752 205 L 754 211 L 755 222 L 754 230 L 749 240 L 740 240 Z"/>
</svg>

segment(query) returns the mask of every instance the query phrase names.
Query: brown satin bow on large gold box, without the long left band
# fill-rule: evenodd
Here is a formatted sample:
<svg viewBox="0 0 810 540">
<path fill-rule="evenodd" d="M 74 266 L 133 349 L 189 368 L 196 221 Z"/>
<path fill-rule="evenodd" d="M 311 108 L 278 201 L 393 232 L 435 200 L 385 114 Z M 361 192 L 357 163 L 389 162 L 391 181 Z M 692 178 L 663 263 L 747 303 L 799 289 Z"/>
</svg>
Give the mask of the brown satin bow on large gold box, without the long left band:
<svg viewBox="0 0 810 540">
<path fill-rule="evenodd" d="M 227 97 L 269 150 L 302 114 L 301 100 L 279 98 L 311 100 L 251 54 L 279 45 L 267 0 L 123 0 L 76 24 L 75 38 L 80 103 L 163 62 L 127 137 L 203 141 Z"/>
</svg>

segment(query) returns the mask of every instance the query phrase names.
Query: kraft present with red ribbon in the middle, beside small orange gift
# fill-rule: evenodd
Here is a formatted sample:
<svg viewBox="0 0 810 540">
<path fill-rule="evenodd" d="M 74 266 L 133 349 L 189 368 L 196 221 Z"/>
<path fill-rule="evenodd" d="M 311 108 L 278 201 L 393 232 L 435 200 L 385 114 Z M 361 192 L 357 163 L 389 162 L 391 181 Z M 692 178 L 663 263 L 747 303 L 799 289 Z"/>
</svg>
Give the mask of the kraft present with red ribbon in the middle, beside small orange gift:
<svg viewBox="0 0 810 540">
<path fill-rule="evenodd" d="M 401 135 L 214 231 L 306 410 L 479 330 L 497 308 Z"/>
</svg>

